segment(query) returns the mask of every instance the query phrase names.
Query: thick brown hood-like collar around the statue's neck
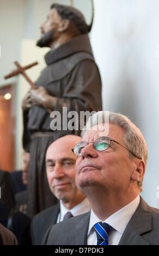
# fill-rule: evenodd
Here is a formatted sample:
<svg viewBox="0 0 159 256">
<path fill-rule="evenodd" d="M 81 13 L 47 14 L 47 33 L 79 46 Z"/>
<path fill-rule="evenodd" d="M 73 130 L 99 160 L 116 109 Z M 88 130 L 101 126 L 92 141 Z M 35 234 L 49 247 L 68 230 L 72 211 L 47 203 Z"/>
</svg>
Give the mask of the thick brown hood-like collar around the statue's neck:
<svg viewBox="0 0 159 256">
<path fill-rule="evenodd" d="M 75 36 L 75 38 L 62 44 L 55 50 L 51 50 L 46 54 L 45 61 L 47 65 L 50 65 L 77 52 L 87 52 L 93 55 L 87 34 Z"/>
</svg>

